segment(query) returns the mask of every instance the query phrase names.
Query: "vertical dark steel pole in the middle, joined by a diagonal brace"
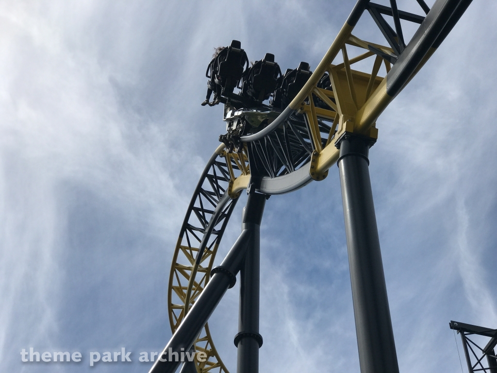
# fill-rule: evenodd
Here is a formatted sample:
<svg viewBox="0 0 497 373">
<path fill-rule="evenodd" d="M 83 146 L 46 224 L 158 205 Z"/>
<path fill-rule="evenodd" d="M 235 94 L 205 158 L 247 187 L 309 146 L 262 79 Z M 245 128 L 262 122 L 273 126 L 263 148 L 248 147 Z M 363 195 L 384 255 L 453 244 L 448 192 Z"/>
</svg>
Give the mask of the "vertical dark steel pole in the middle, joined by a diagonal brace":
<svg viewBox="0 0 497 373">
<path fill-rule="evenodd" d="M 247 206 L 242 218 L 242 230 L 248 230 L 245 260 L 240 270 L 240 309 L 235 346 L 238 348 L 237 373 L 259 372 L 259 258 L 260 222 L 266 202 L 265 194 L 248 194 Z"/>
</svg>

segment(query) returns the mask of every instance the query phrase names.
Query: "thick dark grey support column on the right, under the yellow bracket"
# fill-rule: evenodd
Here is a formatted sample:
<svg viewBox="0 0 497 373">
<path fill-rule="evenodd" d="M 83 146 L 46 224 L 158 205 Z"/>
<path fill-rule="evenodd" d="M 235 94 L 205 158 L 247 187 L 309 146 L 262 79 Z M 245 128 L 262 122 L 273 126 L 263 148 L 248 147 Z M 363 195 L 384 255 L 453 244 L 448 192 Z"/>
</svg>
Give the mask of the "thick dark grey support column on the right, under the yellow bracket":
<svg viewBox="0 0 497 373">
<path fill-rule="evenodd" d="M 340 184 L 361 373 L 398 373 L 397 353 L 369 179 L 371 139 L 339 142 Z"/>
</svg>

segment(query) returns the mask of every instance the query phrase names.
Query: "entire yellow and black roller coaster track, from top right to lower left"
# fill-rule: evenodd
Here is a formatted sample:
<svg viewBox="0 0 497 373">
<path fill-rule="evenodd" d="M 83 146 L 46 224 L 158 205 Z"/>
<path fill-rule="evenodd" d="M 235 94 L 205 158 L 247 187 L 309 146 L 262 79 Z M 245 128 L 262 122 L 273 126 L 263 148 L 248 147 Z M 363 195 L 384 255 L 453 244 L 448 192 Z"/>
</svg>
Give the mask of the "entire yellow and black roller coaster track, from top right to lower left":
<svg viewBox="0 0 497 373">
<path fill-rule="evenodd" d="M 227 105 L 227 121 L 246 115 L 273 120 L 242 136 L 240 152 L 229 152 L 221 145 L 200 177 L 181 227 L 169 276 L 172 333 L 210 279 L 220 241 L 241 191 L 250 187 L 266 195 L 291 192 L 327 177 L 328 169 L 339 158 L 337 145 L 343 136 L 354 134 L 374 143 L 379 115 L 426 63 L 471 3 L 437 0 L 429 8 L 423 0 L 415 1 L 423 15 L 399 10 L 395 0 L 390 0 L 390 6 L 357 1 L 309 81 L 284 110 L 269 106 L 266 111 L 230 110 Z M 357 21 L 366 16 L 365 10 L 388 45 L 352 34 Z M 385 16 L 391 17 L 394 27 Z M 419 25 L 410 41 L 404 38 L 401 19 Z M 362 51 L 351 57 L 351 50 Z M 352 69 L 366 59 L 371 60 L 370 70 Z M 382 65 L 384 77 L 378 76 Z M 331 89 L 318 87 L 325 75 L 330 78 Z M 194 349 L 208 356 L 205 362 L 195 357 L 197 372 L 228 373 L 207 324 Z"/>
</svg>

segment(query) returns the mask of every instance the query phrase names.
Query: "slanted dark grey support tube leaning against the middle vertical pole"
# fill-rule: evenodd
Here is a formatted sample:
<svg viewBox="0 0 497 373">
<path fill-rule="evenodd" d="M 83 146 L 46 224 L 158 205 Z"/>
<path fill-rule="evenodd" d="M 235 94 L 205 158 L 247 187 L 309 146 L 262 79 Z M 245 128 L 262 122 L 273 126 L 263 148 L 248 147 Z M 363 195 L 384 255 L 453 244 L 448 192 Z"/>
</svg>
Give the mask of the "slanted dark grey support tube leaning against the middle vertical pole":
<svg viewBox="0 0 497 373">
<path fill-rule="evenodd" d="M 163 352 L 159 354 L 149 373 L 176 371 L 181 364 L 178 358 L 181 356 L 181 348 L 184 349 L 183 351 L 191 348 L 226 290 L 235 285 L 236 275 L 240 271 L 251 239 L 250 235 L 251 232 L 244 229 L 221 265 L 212 270 L 211 280 L 176 329 Z"/>
</svg>

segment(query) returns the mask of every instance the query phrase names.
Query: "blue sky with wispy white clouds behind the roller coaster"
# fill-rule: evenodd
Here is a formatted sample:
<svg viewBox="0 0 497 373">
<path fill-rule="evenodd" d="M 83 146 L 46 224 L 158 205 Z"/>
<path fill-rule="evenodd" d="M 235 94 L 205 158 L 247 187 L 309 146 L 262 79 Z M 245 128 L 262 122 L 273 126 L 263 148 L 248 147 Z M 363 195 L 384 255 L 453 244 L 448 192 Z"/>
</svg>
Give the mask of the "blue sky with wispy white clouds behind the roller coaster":
<svg viewBox="0 0 497 373">
<path fill-rule="evenodd" d="M 399 1 L 421 14 L 413 3 Z M 139 352 L 170 337 L 172 252 L 225 131 L 222 107 L 200 106 L 213 47 L 238 39 L 251 60 L 313 69 L 352 5 L 0 1 L 0 371 L 148 371 Z M 497 328 L 496 15 L 474 1 L 377 122 L 370 173 L 403 373 L 461 370 L 450 320 Z M 210 321 L 231 372 L 237 312 L 235 286 Z M 336 166 L 266 203 L 260 333 L 261 372 L 359 372 Z M 22 363 L 30 347 L 83 361 Z M 89 367 L 90 351 L 122 347 L 132 363 Z"/>
</svg>

